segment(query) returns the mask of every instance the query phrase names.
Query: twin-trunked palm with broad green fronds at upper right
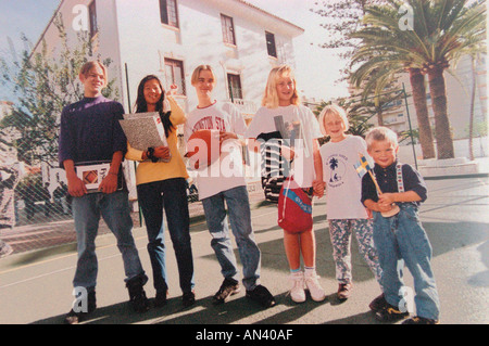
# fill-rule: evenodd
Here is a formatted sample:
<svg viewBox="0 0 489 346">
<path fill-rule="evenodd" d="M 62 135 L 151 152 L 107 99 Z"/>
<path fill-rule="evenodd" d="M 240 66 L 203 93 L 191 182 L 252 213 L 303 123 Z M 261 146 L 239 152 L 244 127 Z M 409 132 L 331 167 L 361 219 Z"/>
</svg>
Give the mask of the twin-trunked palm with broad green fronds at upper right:
<svg viewBox="0 0 489 346">
<path fill-rule="evenodd" d="M 486 39 L 486 1 L 469 0 L 389 0 L 387 5 L 366 8 L 366 26 L 352 37 L 362 39 L 353 62 L 364 61 L 355 72 L 365 78 L 368 71 L 373 80 L 367 88 L 378 92 L 396 74 L 408 71 L 419 123 L 419 141 L 427 146 L 429 120 L 423 75 L 428 76 L 429 92 L 435 114 L 435 137 L 438 158 L 454 157 L 450 121 L 447 114 L 447 92 L 443 72 L 450 62 L 456 63 L 471 47 L 480 47 Z M 401 5 L 409 4 L 413 28 L 399 25 Z M 360 69 L 362 68 L 363 69 Z M 423 82 L 422 82 L 423 81 Z M 423 110 L 425 108 L 426 112 Z M 419 110 L 419 113 L 418 113 Z M 425 132 L 425 133 L 422 133 Z M 429 155 L 425 154 L 424 156 Z"/>
</svg>

